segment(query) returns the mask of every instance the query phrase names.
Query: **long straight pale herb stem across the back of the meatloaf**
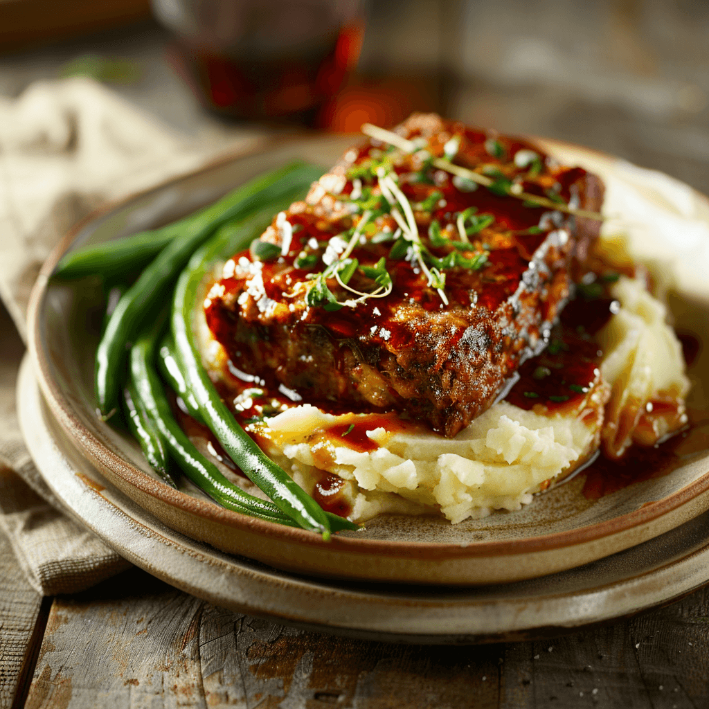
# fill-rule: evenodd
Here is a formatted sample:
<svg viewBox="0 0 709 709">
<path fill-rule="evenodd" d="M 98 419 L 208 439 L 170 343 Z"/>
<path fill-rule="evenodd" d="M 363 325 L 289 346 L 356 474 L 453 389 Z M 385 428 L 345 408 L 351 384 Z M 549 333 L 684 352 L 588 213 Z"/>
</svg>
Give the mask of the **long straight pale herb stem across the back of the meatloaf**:
<svg viewBox="0 0 709 709">
<path fill-rule="evenodd" d="M 420 150 L 418 145 L 416 145 L 413 140 L 403 138 L 401 135 L 392 133 L 391 130 L 379 128 L 378 125 L 372 125 L 372 123 L 364 123 L 364 125 L 362 125 L 362 133 L 364 133 L 364 135 L 369 135 L 370 138 L 374 138 L 375 140 L 381 140 L 382 143 L 394 145 L 400 150 L 403 150 L 403 152 L 413 153 Z M 454 164 L 450 161 L 450 159 L 432 157 L 430 159 L 430 164 L 432 164 L 433 167 L 445 170 L 445 172 L 450 172 L 451 174 L 457 175 L 457 177 L 469 179 L 471 182 L 487 187 L 496 194 L 509 195 L 510 197 L 516 197 L 517 199 L 523 199 L 524 201 L 532 203 L 535 206 L 551 208 L 567 214 L 573 214 L 574 216 L 584 217 L 586 219 L 594 219 L 597 221 L 603 221 L 605 219 L 602 214 L 597 212 L 570 207 L 563 201 L 563 199 L 559 201 L 560 198 L 549 199 L 548 197 L 542 197 L 538 194 L 529 194 L 521 189 L 520 191 L 516 191 L 515 185 L 506 177 L 489 177 L 487 175 L 480 174 L 479 172 L 475 172 L 474 170 L 470 170 L 467 167 Z"/>
</svg>

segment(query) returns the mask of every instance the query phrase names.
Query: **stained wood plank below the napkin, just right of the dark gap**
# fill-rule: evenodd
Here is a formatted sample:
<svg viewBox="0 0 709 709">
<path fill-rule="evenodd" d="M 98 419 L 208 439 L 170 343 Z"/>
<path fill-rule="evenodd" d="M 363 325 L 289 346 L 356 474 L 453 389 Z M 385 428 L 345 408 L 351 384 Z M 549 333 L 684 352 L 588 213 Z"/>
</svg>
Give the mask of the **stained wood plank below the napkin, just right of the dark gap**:
<svg viewBox="0 0 709 709">
<path fill-rule="evenodd" d="M 143 573 L 56 598 L 26 706 L 204 708 L 203 606 Z"/>
</svg>

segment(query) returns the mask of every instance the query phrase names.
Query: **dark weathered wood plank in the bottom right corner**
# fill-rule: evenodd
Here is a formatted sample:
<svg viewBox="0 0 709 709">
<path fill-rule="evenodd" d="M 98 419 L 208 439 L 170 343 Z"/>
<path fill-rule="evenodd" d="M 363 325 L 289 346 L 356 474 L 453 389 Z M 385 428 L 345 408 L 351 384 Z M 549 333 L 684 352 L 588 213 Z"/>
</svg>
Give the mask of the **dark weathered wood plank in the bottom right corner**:
<svg viewBox="0 0 709 709">
<path fill-rule="evenodd" d="M 702 708 L 709 705 L 706 589 L 637 618 L 506 646 L 501 705 Z"/>
</svg>

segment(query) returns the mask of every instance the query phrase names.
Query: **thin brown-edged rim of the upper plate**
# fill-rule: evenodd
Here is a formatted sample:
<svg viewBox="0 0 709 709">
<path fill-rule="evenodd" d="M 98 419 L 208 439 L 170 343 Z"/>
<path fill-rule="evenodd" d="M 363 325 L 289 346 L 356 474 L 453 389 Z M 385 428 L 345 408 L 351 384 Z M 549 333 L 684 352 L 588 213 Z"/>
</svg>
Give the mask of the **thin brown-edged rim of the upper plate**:
<svg viewBox="0 0 709 709">
<path fill-rule="evenodd" d="M 342 136 L 342 140 L 349 136 Z M 552 140 L 550 138 L 538 138 L 536 136 L 524 136 L 528 140 L 536 141 L 548 145 L 552 150 L 554 146 L 571 148 L 580 155 L 591 154 L 597 159 L 601 158 L 607 162 L 615 162 L 620 160 L 618 157 L 613 157 L 607 153 L 586 148 L 575 143 L 569 143 L 562 140 Z M 333 140 L 333 137 L 329 137 Z M 79 221 L 67 234 L 60 240 L 57 246 L 52 250 L 48 259 L 43 264 L 40 274 L 35 285 L 33 286 L 28 303 L 28 346 L 30 355 L 33 360 L 35 372 L 37 374 L 40 389 L 48 402 L 52 413 L 57 417 L 69 436 L 72 438 L 74 445 L 77 445 L 82 452 L 99 464 L 106 466 L 123 480 L 134 486 L 139 491 L 147 493 L 158 500 L 167 503 L 169 506 L 184 510 L 186 513 L 191 513 L 202 518 L 206 518 L 214 523 L 233 527 L 239 530 L 248 530 L 251 533 L 263 535 L 264 537 L 272 538 L 273 540 L 283 540 L 296 542 L 298 545 L 305 547 L 328 547 L 337 545 L 342 552 L 362 553 L 362 554 L 377 554 L 386 557 L 416 557 L 416 558 L 435 558 L 435 559 L 459 559 L 465 557 L 498 557 L 508 554 L 521 554 L 525 552 L 540 552 L 550 551 L 552 549 L 562 549 L 564 547 L 573 547 L 584 542 L 593 542 L 604 537 L 612 537 L 620 532 L 625 532 L 633 527 L 638 527 L 656 520 L 672 510 L 683 506 L 685 503 L 693 500 L 701 493 L 709 490 L 709 471 L 703 474 L 700 478 L 681 490 L 672 493 L 671 495 L 662 498 L 652 503 L 646 503 L 644 506 L 632 512 L 621 515 L 620 517 L 605 520 L 603 522 L 593 523 L 586 527 L 578 527 L 574 530 L 563 532 L 554 532 L 547 535 L 538 535 L 535 537 L 527 537 L 521 540 L 491 540 L 484 542 L 467 542 L 462 545 L 460 542 L 407 542 L 407 541 L 386 541 L 386 540 L 370 540 L 357 537 L 341 537 L 333 535 L 329 542 L 324 542 L 319 535 L 313 534 L 306 530 L 296 527 L 286 527 L 270 523 L 265 520 L 259 520 L 253 517 L 247 517 L 240 513 L 226 510 L 217 505 L 217 503 L 208 502 L 193 498 L 186 493 L 182 493 L 169 485 L 152 479 L 145 472 L 135 467 L 123 457 L 109 450 L 100 440 L 98 440 L 91 431 L 84 426 L 81 417 L 77 415 L 71 403 L 61 391 L 57 381 L 52 376 L 52 365 L 49 361 L 44 347 L 43 341 L 43 306 L 45 298 L 48 294 L 49 278 L 54 271 L 57 262 L 64 253 L 72 245 L 74 238 L 88 228 L 96 220 L 108 216 L 118 208 L 130 206 L 130 203 L 137 201 L 150 194 L 160 192 L 169 186 L 179 184 L 185 179 L 199 177 L 201 174 L 211 172 L 218 167 L 223 167 L 232 162 L 257 155 L 259 153 L 272 152 L 281 147 L 290 147 L 298 143 L 307 142 L 323 142 L 323 136 L 297 136 L 296 138 L 286 138 L 283 140 L 274 140 L 268 145 L 257 145 L 248 150 L 232 153 L 225 157 L 211 160 L 204 167 L 191 172 L 179 175 L 172 179 L 166 180 L 157 186 L 150 189 L 130 194 L 124 199 L 112 201 L 104 206 L 91 212 L 86 218 Z M 356 141 L 357 138 L 353 137 Z M 709 198 L 700 192 L 693 190 L 693 193 L 700 199 L 705 201 L 709 206 Z M 108 425 L 108 424 L 106 424 Z"/>
</svg>

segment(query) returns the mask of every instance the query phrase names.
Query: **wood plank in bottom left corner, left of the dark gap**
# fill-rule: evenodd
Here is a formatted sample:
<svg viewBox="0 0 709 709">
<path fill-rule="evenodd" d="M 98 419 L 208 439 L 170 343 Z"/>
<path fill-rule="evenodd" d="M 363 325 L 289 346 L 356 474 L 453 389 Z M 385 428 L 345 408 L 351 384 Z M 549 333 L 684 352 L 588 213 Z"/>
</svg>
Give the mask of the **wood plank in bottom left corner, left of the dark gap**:
<svg viewBox="0 0 709 709">
<path fill-rule="evenodd" d="M 11 706 L 31 655 L 42 597 L 26 581 L 0 532 L 0 708 Z"/>
</svg>

